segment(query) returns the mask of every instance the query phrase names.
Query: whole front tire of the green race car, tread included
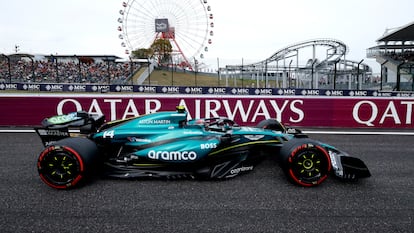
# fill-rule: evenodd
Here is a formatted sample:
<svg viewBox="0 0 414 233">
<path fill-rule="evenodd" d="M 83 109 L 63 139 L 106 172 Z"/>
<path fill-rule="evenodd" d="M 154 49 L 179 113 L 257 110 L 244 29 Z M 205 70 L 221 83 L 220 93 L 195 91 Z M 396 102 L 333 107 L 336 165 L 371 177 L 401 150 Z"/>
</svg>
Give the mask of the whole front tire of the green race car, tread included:
<svg viewBox="0 0 414 233">
<path fill-rule="evenodd" d="M 280 150 L 280 159 L 288 179 L 304 187 L 321 184 L 331 171 L 328 152 L 311 139 L 289 140 Z"/>
</svg>

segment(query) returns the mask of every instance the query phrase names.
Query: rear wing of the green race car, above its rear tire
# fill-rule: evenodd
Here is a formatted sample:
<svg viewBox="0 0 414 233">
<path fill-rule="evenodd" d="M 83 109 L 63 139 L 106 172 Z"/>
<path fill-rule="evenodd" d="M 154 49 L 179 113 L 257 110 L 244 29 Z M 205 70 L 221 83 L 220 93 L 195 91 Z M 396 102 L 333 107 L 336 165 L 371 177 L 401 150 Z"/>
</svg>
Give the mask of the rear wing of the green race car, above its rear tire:
<svg viewBox="0 0 414 233">
<path fill-rule="evenodd" d="M 72 112 L 45 118 L 42 127 L 35 128 L 44 146 L 63 138 L 95 133 L 105 123 L 104 115 L 85 111 Z"/>
</svg>

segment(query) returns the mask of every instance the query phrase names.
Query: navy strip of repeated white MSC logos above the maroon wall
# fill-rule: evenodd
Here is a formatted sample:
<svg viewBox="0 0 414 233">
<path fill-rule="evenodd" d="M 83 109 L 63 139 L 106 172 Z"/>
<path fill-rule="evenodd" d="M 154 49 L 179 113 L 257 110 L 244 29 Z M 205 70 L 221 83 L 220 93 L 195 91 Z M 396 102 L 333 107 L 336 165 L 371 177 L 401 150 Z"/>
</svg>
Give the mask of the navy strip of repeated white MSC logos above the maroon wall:
<svg viewBox="0 0 414 233">
<path fill-rule="evenodd" d="M 67 93 L 145 93 L 197 95 L 252 95 L 252 96 L 348 96 L 348 97 L 414 97 L 414 92 L 378 90 L 334 90 L 296 88 L 238 88 L 196 86 L 98 85 L 59 83 L 0 83 L 2 91 L 67 92 Z"/>
</svg>

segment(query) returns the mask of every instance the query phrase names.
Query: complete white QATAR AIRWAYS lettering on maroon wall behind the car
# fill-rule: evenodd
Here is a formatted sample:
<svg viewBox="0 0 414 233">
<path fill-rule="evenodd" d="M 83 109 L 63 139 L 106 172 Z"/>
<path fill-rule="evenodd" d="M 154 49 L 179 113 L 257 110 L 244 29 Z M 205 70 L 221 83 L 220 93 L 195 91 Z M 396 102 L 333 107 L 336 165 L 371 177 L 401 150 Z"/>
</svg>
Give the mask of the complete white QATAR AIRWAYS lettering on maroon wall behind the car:
<svg viewBox="0 0 414 233">
<path fill-rule="evenodd" d="M 127 102 L 126 106 L 125 102 Z M 188 107 L 190 103 L 193 105 L 192 108 Z M 275 118 L 278 121 L 282 121 L 282 117 L 284 113 L 286 113 L 289 115 L 289 122 L 298 123 L 301 122 L 305 117 L 304 111 L 302 109 L 303 103 L 303 100 L 297 99 L 238 99 L 235 101 L 228 99 L 180 99 L 178 103 L 172 104 L 172 106 L 174 106 L 174 108 L 178 105 L 185 106 L 188 110 L 188 119 L 225 116 L 229 119 L 238 119 L 239 122 L 257 122 L 259 120 L 269 118 Z M 109 108 L 109 112 L 105 115 L 107 116 L 107 119 L 110 120 L 120 119 L 120 115 L 117 114 L 120 111 L 122 111 L 121 119 L 126 119 L 129 117 L 139 116 L 140 114 L 149 114 L 160 111 L 163 106 L 162 101 L 159 99 L 92 99 L 89 106 L 86 105 L 82 107 L 81 101 L 79 100 L 64 99 L 61 100 L 57 106 L 58 114 L 62 114 L 64 112 L 63 109 L 68 105 L 75 106 L 75 111 L 88 109 L 87 111 L 89 113 L 98 115 L 104 115 L 102 109 Z M 139 112 L 138 109 L 140 109 L 141 112 Z M 204 116 L 201 115 L 202 111 L 204 112 Z M 169 123 L 142 122 L 142 124 Z"/>
</svg>

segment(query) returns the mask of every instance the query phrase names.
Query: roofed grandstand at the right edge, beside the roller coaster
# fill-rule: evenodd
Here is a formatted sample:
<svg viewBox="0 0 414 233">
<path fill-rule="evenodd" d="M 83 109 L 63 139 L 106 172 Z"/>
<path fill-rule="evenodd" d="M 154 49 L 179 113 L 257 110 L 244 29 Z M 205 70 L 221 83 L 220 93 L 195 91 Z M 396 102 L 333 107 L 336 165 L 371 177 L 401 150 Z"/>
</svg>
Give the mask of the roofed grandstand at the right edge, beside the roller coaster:
<svg viewBox="0 0 414 233">
<path fill-rule="evenodd" d="M 387 29 L 367 57 L 381 65 L 381 90 L 414 91 L 414 22 Z"/>
</svg>

